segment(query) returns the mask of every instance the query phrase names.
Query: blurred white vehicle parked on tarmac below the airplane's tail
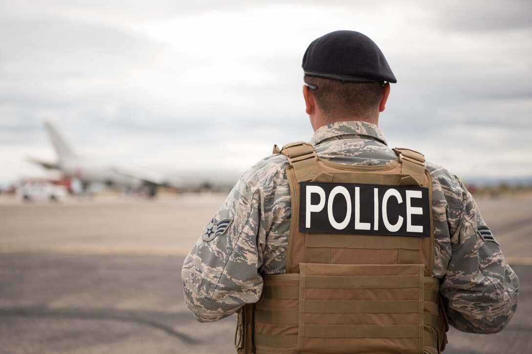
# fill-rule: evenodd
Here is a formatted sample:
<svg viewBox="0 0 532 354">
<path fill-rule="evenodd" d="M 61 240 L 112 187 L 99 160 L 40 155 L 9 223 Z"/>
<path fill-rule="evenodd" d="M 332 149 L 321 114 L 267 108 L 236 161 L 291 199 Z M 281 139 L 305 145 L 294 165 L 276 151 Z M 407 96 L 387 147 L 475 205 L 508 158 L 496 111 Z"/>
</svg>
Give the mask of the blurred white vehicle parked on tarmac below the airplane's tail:
<svg viewBox="0 0 532 354">
<path fill-rule="evenodd" d="M 21 179 L 16 186 L 16 195 L 22 200 L 63 200 L 68 193 L 65 186 L 48 179 Z"/>
</svg>

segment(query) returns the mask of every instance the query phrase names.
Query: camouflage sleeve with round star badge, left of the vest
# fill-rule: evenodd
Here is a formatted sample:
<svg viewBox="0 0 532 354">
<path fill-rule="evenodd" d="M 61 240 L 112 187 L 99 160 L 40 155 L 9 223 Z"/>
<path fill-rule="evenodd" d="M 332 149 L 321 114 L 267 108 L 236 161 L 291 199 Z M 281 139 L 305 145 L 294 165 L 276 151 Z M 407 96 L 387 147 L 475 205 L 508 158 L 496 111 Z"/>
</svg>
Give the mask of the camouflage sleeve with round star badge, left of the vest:
<svg viewBox="0 0 532 354">
<path fill-rule="evenodd" d="M 253 169 L 236 183 L 183 264 L 185 301 L 200 322 L 227 317 L 262 291 L 257 245 L 263 190 Z"/>
</svg>

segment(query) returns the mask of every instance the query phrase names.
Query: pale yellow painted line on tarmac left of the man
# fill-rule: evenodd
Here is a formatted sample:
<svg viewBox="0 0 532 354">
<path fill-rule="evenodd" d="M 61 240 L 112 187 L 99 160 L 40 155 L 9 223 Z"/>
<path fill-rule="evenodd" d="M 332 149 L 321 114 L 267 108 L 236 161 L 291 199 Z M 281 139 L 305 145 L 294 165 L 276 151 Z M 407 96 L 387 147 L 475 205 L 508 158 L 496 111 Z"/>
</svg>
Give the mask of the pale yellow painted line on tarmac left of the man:
<svg viewBox="0 0 532 354">
<path fill-rule="evenodd" d="M 186 256 L 191 248 L 120 246 L 22 246 L 0 245 L 0 254 L 53 253 L 64 255 Z"/>
</svg>

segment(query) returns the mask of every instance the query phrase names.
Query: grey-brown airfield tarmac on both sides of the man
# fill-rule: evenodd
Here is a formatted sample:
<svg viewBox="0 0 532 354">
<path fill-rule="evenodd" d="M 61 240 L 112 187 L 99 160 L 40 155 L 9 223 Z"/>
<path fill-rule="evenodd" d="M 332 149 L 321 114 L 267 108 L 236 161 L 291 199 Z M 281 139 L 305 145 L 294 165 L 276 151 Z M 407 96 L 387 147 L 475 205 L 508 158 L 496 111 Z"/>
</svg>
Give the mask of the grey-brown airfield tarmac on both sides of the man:
<svg viewBox="0 0 532 354">
<path fill-rule="evenodd" d="M 198 323 L 181 265 L 220 195 L 0 198 L 0 353 L 235 353 L 235 317 Z M 520 279 L 500 333 L 451 328 L 445 353 L 532 352 L 532 198 L 477 200 Z"/>
</svg>

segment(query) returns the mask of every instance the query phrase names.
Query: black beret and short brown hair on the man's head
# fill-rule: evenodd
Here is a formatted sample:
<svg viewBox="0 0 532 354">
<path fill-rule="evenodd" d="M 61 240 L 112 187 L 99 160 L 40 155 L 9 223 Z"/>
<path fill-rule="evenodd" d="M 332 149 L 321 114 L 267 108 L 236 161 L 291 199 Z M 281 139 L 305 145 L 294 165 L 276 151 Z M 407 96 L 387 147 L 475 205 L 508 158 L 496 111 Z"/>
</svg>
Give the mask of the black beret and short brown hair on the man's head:
<svg viewBox="0 0 532 354">
<path fill-rule="evenodd" d="M 384 82 L 397 82 L 379 47 L 355 31 L 315 39 L 303 56 L 305 83 L 330 121 L 378 115 Z"/>
</svg>

